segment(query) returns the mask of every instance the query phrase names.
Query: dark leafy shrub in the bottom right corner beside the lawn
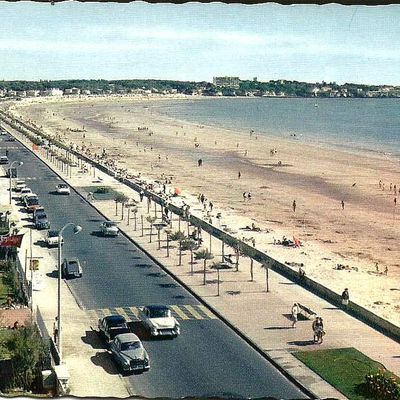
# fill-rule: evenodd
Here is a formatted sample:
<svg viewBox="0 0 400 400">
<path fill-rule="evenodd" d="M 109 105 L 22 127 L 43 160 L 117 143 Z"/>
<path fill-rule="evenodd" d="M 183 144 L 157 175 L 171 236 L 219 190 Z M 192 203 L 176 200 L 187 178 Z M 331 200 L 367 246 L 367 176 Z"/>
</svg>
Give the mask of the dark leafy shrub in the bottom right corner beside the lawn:
<svg viewBox="0 0 400 400">
<path fill-rule="evenodd" d="M 375 399 L 400 400 L 400 381 L 384 370 L 368 374 L 365 377 L 365 389 Z"/>
</svg>

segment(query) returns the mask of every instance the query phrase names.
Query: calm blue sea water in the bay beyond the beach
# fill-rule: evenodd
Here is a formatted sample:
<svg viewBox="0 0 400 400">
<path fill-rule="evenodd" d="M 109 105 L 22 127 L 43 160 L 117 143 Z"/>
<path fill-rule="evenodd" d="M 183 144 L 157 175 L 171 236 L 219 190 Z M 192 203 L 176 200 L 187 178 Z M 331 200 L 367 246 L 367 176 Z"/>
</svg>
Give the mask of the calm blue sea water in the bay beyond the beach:
<svg viewBox="0 0 400 400">
<path fill-rule="evenodd" d="M 201 98 L 152 108 L 246 135 L 253 129 L 258 135 L 400 159 L 400 99 Z"/>
</svg>

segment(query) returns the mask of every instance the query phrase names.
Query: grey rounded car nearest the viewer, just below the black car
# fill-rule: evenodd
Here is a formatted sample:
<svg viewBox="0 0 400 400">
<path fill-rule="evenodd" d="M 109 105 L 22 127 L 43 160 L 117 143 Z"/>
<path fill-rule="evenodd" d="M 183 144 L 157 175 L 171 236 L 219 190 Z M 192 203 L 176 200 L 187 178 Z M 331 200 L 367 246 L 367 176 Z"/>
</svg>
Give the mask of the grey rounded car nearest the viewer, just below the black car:
<svg viewBox="0 0 400 400">
<path fill-rule="evenodd" d="M 134 333 L 117 335 L 110 343 L 110 350 L 122 372 L 144 372 L 150 369 L 149 355 Z"/>
</svg>

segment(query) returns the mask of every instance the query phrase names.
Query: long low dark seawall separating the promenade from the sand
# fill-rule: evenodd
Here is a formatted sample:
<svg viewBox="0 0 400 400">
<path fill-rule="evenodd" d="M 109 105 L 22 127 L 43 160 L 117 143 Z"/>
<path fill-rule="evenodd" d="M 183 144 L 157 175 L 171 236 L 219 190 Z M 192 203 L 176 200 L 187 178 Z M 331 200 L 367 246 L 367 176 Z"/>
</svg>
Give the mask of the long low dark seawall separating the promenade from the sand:
<svg viewBox="0 0 400 400">
<path fill-rule="evenodd" d="M 4 114 L 4 113 L 3 113 Z M 0 114 L 1 118 L 1 114 Z M 33 128 L 30 128 L 28 125 L 23 123 L 24 127 L 26 129 L 30 129 L 33 131 Z M 16 128 L 18 129 L 18 128 Z M 34 132 L 37 135 L 41 135 L 40 131 L 37 129 L 34 129 Z M 47 135 L 46 135 L 47 136 Z M 112 177 L 117 177 L 117 173 L 112 170 L 111 168 L 92 160 L 91 158 L 87 157 L 84 154 L 81 154 L 75 150 L 72 150 L 68 148 L 65 144 L 52 140 L 52 143 L 54 145 L 57 145 L 63 150 L 67 150 L 74 154 L 76 157 L 81 158 L 85 162 L 91 164 L 92 166 L 96 167 L 97 169 L 103 171 L 104 173 L 112 176 Z M 155 203 L 159 204 L 160 206 L 165 204 L 165 200 L 157 195 L 156 193 L 148 190 L 145 188 L 144 184 L 135 181 L 132 179 L 126 179 L 126 178 L 120 178 L 119 181 L 128 187 L 134 189 L 135 191 L 139 192 L 142 191 L 144 192 L 144 195 L 146 197 L 150 197 Z M 177 207 L 173 204 L 169 204 L 168 208 L 176 215 L 183 216 L 183 210 L 180 207 Z M 304 287 L 305 289 L 309 290 L 310 292 L 316 294 L 317 296 L 327 300 L 331 304 L 341 307 L 341 296 L 335 293 L 334 291 L 330 290 L 329 288 L 321 285 L 320 283 L 310 279 L 307 276 L 302 277 L 301 279 L 299 278 L 299 275 L 296 271 L 291 269 L 289 266 L 286 264 L 283 264 L 272 257 L 268 256 L 266 253 L 248 245 L 247 243 L 243 242 L 240 239 L 237 239 L 236 237 L 232 236 L 226 231 L 223 231 L 222 229 L 219 229 L 215 227 L 214 225 L 202 220 L 201 218 L 198 218 L 194 215 L 189 216 L 189 222 L 191 225 L 200 227 L 203 231 L 209 233 L 210 235 L 218 238 L 219 240 L 223 241 L 225 244 L 232 248 L 239 248 L 241 253 L 246 254 L 253 260 L 261 263 L 265 268 L 270 268 L 271 270 L 277 272 L 278 274 L 286 277 L 287 279 L 298 283 L 300 286 Z M 345 310 L 347 313 L 351 314 L 352 316 L 360 319 L 361 321 L 367 323 L 371 327 L 377 329 L 381 333 L 393 338 L 397 342 L 400 343 L 400 327 L 392 324 L 391 322 L 377 316 L 373 312 L 367 310 L 364 307 L 361 307 L 360 305 L 349 302 L 349 304 L 346 307 Z"/>
</svg>

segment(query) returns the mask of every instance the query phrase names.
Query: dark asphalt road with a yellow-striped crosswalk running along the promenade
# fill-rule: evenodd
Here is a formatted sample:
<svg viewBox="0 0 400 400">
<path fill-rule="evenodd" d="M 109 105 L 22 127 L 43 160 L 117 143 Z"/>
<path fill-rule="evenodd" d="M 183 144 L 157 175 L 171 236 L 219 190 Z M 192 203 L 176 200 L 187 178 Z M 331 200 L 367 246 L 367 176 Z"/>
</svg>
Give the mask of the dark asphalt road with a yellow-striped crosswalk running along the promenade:
<svg viewBox="0 0 400 400">
<path fill-rule="evenodd" d="M 5 146 L 10 161 L 24 162 L 19 176 L 39 195 L 52 228 L 59 229 L 67 222 L 83 227 L 79 235 L 73 235 L 72 229 L 65 231 L 63 255 L 77 256 L 83 263 L 83 277 L 68 281 L 68 285 L 81 307 L 88 310 L 88 329 L 98 316 L 114 312 L 116 307 L 129 316 L 144 304 L 174 306 L 182 335 L 174 340 L 143 338 L 151 369 L 124 378 L 134 393 L 175 398 L 307 398 L 125 237 L 100 237 L 101 215 L 75 192 L 54 194 L 59 178 L 46 165 L 18 142 L 6 142 L 4 137 L 0 138 L 0 155 Z M 140 324 L 133 323 L 133 328 L 141 334 Z"/>
</svg>

